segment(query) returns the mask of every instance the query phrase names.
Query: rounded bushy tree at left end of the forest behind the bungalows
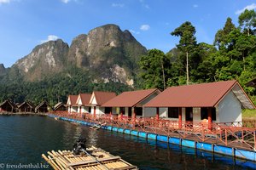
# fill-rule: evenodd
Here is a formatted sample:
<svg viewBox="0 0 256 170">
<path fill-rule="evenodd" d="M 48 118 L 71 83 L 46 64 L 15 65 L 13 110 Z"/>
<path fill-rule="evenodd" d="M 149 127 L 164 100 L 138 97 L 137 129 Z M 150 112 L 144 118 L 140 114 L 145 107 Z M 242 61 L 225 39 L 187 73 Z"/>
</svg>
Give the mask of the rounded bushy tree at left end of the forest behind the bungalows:
<svg viewBox="0 0 256 170">
<path fill-rule="evenodd" d="M 166 88 L 167 71 L 170 69 L 170 59 L 159 49 L 151 49 L 148 55 L 143 55 L 139 61 L 144 80 L 144 88 Z"/>
</svg>

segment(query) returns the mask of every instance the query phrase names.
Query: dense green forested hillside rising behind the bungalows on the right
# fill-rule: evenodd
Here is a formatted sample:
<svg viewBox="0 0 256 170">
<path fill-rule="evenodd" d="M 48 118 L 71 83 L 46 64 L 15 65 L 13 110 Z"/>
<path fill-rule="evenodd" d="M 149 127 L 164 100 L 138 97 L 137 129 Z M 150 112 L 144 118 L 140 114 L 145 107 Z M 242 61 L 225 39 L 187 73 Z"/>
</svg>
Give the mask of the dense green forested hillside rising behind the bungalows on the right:
<svg viewBox="0 0 256 170">
<path fill-rule="evenodd" d="M 184 22 L 171 32 L 179 37 L 177 48 L 164 54 L 151 49 L 140 61 L 143 88 L 165 89 L 170 86 L 236 79 L 251 96 L 255 88 L 245 83 L 256 77 L 256 13 L 245 10 L 236 26 L 230 18 L 216 32 L 214 42 L 198 43 L 195 26 Z M 187 67 L 188 65 L 188 67 Z"/>
</svg>

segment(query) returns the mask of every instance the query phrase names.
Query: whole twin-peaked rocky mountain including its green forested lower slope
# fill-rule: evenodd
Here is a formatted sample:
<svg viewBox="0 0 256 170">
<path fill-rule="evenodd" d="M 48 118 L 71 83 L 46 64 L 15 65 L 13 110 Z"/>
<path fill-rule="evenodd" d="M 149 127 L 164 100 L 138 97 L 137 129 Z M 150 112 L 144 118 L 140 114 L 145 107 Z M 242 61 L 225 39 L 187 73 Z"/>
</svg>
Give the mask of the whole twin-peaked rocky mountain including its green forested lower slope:
<svg viewBox="0 0 256 170">
<path fill-rule="evenodd" d="M 55 102 L 68 94 L 108 90 L 120 93 L 136 85 L 137 61 L 147 49 L 119 26 L 96 27 L 73 39 L 44 42 L 10 68 L 0 65 L 0 101 Z"/>
</svg>

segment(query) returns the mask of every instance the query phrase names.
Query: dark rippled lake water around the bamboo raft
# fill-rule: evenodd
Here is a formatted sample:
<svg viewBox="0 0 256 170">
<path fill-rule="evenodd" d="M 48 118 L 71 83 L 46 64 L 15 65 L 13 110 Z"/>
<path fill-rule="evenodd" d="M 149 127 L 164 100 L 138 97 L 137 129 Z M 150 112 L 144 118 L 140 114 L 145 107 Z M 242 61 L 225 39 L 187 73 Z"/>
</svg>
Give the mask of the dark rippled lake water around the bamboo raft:
<svg viewBox="0 0 256 170">
<path fill-rule="evenodd" d="M 229 156 L 102 129 L 90 130 L 46 116 L 0 116 L 0 168 L 6 168 L 7 164 L 45 163 L 42 153 L 72 150 L 80 135 L 86 137 L 87 146 L 95 145 L 114 156 L 121 156 L 140 169 L 256 169 L 255 164 L 247 167 L 250 162 L 233 160 Z"/>
</svg>

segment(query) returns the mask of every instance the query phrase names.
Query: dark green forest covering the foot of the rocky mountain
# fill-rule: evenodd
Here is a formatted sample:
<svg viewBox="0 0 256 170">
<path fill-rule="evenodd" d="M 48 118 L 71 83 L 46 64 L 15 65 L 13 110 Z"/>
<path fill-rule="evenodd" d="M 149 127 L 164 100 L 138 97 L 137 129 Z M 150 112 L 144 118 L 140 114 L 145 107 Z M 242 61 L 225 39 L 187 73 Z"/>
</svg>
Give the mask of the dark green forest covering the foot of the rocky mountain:
<svg viewBox="0 0 256 170">
<path fill-rule="evenodd" d="M 15 103 L 21 103 L 28 99 L 38 105 L 43 99 L 47 99 L 50 105 L 55 105 L 58 101 L 66 103 L 68 94 L 91 93 L 93 90 L 117 93 L 131 90 L 119 82 L 92 83 L 90 75 L 88 71 L 73 66 L 55 77 L 45 77 L 38 82 L 0 79 L 0 101 L 12 99 Z"/>
</svg>

